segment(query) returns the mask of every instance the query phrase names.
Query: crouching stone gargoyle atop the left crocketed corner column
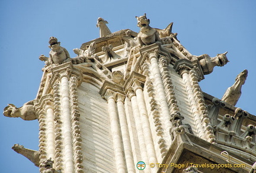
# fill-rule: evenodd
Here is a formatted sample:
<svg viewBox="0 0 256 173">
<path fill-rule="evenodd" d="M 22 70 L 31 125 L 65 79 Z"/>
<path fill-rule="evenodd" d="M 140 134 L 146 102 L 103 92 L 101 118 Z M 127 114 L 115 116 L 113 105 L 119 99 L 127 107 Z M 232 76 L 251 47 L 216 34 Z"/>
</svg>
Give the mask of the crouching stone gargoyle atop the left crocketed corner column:
<svg viewBox="0 0 256 173">
<path fill-rule="evenodd" d="M 49 48 L 51 49 L 49 58 L 44 55 L 39 57 L 41 61 L 45 62 L 46 66 L 51 64 L 62 64 L 71 61 L 68 51 L 66 48 L 60 46 L 60 41 L 58 42 L 56 37 L 50 37 L 49 44 Z"/>
</svg>

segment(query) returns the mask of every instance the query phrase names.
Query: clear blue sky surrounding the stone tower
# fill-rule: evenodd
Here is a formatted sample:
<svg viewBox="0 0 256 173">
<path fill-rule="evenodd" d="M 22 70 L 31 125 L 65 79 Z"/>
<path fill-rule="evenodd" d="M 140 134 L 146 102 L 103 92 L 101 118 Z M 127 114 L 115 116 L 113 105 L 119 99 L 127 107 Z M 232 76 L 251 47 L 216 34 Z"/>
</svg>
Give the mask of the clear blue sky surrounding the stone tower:
<svg viewBox="0 0 256 173">
<path fill-rule="evenodd" d="M 256 115 L 256 2 L 251 1 L 0 1 L 0 109 L 8 103 L 17 107 L 36 97 L 49 37 L 57 37 L 71 57 L 73 48 L 99 37 L 97 18 L 108 21 L 111 32 L 138 32 L 135 16 L 151 19 L 151 27 L 172 32 L 199 56 L 228 51 L 229 63 L 215 67 L 200 82 L 202 90 L 219 99 L 242 70 L 248 77 L 236 106 Z M 38 122 L 0 116 L 1 172 L 38 172 L 37 167 L 12 151 L 14 143 L 38 149 Z"/>
</svg>

